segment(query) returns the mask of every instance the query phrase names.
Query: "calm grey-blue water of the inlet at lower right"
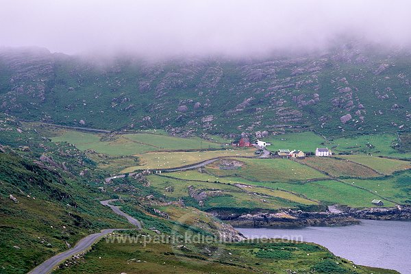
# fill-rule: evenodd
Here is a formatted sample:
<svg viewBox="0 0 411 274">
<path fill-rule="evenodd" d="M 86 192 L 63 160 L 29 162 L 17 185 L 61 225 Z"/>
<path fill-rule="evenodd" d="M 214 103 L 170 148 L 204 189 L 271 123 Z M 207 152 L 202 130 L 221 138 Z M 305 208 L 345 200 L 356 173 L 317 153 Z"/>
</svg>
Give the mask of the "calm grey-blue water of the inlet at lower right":
<svg viewBox="0 0 411 274">
<path fill-rule="evenodd" d="M 411 222 L 364 220 L 347 227 L 300 229 L 238 228 L 248 238 L 288 238 L 316 242 L 356 264 L 411 274 Z"/>
</svg>

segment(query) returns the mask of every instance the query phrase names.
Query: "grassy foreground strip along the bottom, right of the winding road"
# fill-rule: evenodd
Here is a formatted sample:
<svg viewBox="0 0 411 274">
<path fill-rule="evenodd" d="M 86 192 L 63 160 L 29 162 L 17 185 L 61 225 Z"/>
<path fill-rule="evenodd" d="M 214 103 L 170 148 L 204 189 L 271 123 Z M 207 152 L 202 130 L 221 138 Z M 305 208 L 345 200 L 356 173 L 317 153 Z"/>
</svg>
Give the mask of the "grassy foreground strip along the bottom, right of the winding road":
<svg viewBox="0 0 411 274">
<path fill-rule="evenodd" d="M 356 266 L 354 268 L 353 266 Z M 243 242 L 171 247 L 149 243 L 112 244 L 104 240 L 75 266 L 55 273 L 397 273 L 354 265 L 314 244 Z M 315 272 L 314 272 L 315 271 Z"/>
</svg>

